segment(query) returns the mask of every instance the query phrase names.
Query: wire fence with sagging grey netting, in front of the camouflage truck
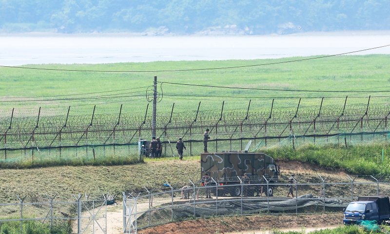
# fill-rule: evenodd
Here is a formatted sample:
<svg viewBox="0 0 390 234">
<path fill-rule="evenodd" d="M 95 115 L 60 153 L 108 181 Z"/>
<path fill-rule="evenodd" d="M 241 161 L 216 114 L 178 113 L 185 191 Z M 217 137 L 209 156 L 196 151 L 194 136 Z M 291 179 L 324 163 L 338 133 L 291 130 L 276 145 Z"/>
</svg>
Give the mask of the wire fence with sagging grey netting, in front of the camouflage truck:
<svg viewBox="0 0 390 234">
<path fill-rule="evenodd" d="M 306 175 L 307 176 L 307 175 Z M 126 194 L 123 192 L 123 232 L 138 230 L 188 219 L 233 215 L 319 215 L 341 214 L 348 203 L 359 196 L 387 195 L 390 181 L 374 176 L 296 175 L 295 183 L 287 182 L 288 175 L 277 184 L 237 184 L 200 186 L 198 183 L 177 188 L 167 183 L 166 191 Z M 253 186 L 277 186 L 275 196 L 254 196 Z M 286 197 L 292 186 L 292 197 Z M 241 195 L 229 195 L 238 187 Z M 211 190 L 212 199 L 206 198 Z M 359 217 L 360 219 L 360 217 Z"/>
</svg>

